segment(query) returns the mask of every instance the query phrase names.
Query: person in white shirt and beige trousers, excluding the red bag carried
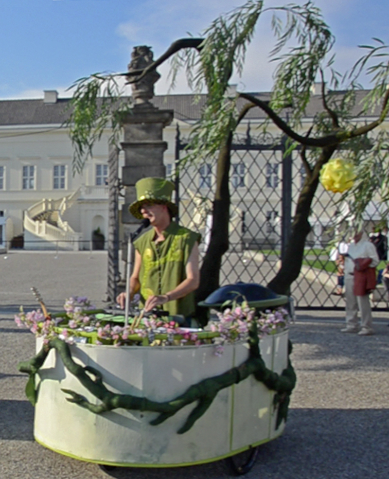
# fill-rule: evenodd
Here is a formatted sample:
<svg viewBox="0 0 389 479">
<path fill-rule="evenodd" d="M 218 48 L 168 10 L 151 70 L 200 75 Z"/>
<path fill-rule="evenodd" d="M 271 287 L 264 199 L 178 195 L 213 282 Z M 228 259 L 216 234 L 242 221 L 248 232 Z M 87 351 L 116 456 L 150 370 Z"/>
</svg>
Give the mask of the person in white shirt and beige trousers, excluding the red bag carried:
<svg viewBox="0 0 389 479">
<path fill-rule="evenodd" d="M 375 268 L 379 259 L 375 246 L 369 241 L 367 234 L 357 231 L 354 234 L 354 243 L 351 243 L 344 264 L 345 300 L 346 300 L 346 327 L 342 333 L 358 333 L 360 336 L 373 334 L 371 306 L 369 294 L 355 296 L 354 268 L 357 258 L 370 258 L 369 267 Z M 361 315 L 361 328 L 358 327 L 358 309 Z"/>
</svg>

